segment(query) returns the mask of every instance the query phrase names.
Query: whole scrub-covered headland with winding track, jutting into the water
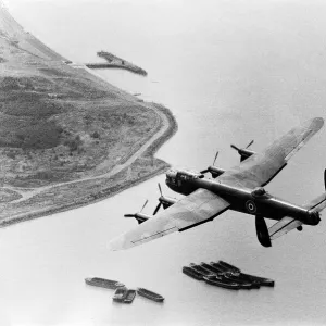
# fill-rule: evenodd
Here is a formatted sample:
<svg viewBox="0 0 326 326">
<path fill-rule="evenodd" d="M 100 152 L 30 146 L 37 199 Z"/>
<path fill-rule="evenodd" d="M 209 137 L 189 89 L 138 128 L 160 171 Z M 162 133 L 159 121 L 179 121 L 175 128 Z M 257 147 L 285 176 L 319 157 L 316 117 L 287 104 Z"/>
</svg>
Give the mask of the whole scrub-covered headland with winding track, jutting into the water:
<svg viewBox="0 0 326 326">
<path fill-rule="evenodd" d="M 0 226 L 108 198 L 164 172 L 172 113 L 70 64 L 0 1 Z"/>
</svg>

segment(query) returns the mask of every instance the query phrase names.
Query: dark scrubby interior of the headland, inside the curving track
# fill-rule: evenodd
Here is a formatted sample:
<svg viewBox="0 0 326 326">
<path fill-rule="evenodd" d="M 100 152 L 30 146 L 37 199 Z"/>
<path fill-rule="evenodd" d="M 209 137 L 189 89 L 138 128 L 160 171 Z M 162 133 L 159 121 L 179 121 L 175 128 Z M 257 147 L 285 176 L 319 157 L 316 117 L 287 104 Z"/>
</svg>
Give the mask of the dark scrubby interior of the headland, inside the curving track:
<svg viewBox="0 0 326 326">
<path fill-rule="evenodd" d="M 26 74 L 0 76 L 0 150 L 12 186 L 78 179 L 103 162 L 109 171 L 150 137 L 151 110 L 86 72 L 32 59 Z"/>
</svg>

